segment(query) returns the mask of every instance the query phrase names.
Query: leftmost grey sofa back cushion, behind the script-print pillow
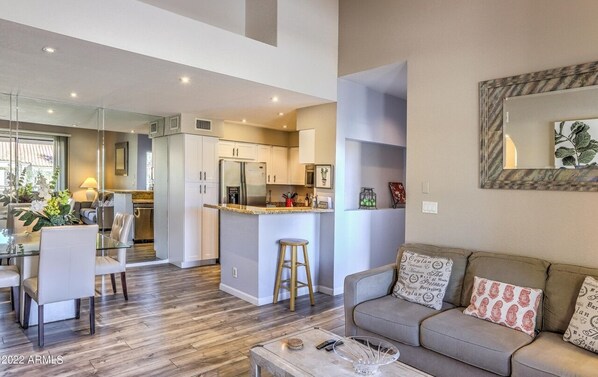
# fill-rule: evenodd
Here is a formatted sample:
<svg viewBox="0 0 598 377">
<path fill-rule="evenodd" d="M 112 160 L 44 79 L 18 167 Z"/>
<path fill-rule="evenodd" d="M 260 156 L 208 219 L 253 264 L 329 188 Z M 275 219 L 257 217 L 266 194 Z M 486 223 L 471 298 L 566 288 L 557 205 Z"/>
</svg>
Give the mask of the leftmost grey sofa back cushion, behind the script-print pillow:
<svg viewBox="0 0 598 377">
<path fill-rule="evenodd" d="M 408 243 L 402 245 L 397 253 L 397 267 L 400 267 L 401 265 L 401 257 L 405 250 L 432 257 L 450 258 L 453 261 L 451 278 L 446 287 L 443 300 L 454 306 L 460 306 L 461 291 L 463 289 L 463 276 L 465 275 L 465 268 L 467 267 L 467 258 L 471 255 L 471 251 L 451 247 Z M 467 301 L 469 300 L 469 297 L 470 296 L 467 297 Z"/>
</svg>

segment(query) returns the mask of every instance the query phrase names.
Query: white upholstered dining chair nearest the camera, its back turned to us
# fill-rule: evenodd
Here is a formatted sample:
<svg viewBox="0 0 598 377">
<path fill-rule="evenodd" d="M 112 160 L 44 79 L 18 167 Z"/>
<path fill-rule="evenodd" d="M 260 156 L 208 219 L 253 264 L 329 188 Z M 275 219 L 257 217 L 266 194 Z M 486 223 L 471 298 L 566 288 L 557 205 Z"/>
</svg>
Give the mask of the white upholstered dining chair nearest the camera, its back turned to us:
<svg viewBox="0 0 598 377">
<path fill-rule="evenodd" d="M 95 333 L 95 255 L 97 225 L 67 225 L 41 229 L 38 276 L 23 281 L 23 328 L 29 327 L 31 300 L 37 302 L 38 344 L 44 346 L 44 305 L 89 298 L 90 333 Z"/>
</svg>

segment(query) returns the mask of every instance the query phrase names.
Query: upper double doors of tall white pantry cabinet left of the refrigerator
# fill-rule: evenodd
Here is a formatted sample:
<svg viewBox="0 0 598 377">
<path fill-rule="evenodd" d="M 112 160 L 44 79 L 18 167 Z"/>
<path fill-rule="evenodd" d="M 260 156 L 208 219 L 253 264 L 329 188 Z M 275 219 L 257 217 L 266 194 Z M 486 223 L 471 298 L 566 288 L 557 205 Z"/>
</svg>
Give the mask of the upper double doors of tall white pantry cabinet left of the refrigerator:
<svg viewBox="0 0 598 377">
<path fill-rule="evenodd" d="M 218 182 L 218 139 L 185 135 L 185 181 Z"/>
</svg>

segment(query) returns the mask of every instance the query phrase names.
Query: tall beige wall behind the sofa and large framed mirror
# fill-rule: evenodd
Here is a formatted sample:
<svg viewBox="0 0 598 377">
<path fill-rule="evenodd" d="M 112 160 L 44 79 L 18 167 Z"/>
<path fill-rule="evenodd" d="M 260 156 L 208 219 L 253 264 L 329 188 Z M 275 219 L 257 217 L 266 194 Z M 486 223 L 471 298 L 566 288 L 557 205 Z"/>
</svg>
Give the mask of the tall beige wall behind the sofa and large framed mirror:
<svg viewBox="0 0 598 377">
<path fill-rule="evenodd" d="M 598 2 L 340 5 L 341 74 L 408 61 L 407 241 L 598 267 L 596 193 L 479 188 L 478 101 L 480 81 L 598 60 Z"/>
</svg>

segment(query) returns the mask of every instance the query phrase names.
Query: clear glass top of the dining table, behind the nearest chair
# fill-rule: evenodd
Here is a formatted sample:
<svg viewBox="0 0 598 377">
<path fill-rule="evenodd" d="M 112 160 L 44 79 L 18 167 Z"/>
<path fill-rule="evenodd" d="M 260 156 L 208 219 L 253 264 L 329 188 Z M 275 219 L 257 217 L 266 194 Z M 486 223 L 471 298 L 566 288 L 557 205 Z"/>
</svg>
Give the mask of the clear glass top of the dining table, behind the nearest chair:
<svg viewBox="0 0 598 377">
<path fill-rule="evenodd" d="M 0 230 L 0 259 L 39 255 L 40 232 L 11 234 L 8 229 Z M 96 250 L 127 248 L 124 242 L 117 241 L 101 233 L 96 237 Z"/>
</svg>

